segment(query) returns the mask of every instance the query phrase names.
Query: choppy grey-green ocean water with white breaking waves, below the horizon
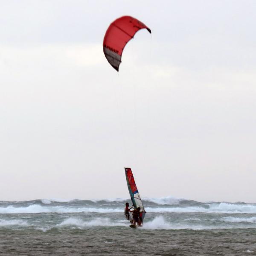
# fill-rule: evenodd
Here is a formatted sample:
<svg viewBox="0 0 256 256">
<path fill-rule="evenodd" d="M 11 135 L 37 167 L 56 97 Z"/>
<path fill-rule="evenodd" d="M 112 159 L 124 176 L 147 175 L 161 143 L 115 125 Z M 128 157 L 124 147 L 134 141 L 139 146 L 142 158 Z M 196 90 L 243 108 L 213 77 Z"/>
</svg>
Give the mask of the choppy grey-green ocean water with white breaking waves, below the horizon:
<svg viewBox="0 0 256 256">
<path fill-rule="evenodd" d="M 144 198 L 131 229 L 126 201 L 0 201 L 0 255 L 256 255 L 256 204 Z"/>
</svg>

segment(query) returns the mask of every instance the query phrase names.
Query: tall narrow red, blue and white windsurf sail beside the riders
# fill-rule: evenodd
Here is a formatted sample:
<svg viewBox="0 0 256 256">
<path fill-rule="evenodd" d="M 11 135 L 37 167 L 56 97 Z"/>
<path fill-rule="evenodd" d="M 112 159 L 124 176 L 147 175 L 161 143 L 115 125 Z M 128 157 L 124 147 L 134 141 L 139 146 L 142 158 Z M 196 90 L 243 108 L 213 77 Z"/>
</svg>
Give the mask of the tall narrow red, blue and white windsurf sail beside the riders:
<svg viewBox="0 0 256 256">
<path fill-rule="evenodd" d="M 135 208 L 140 207 L 141 210 L 141 220 L 143 222 L 143 219 L 145 217 L 145 208 L 143 206 L 142 200 L 140 198 L 139 191 L 137 189 L 137 186 L 135 184 L 134 176 L 132 174 L 131 168 L 125 168 L 125 177 L 127 181 L 128 190 L 131 196 L 131 201 Z"/>
</svg>

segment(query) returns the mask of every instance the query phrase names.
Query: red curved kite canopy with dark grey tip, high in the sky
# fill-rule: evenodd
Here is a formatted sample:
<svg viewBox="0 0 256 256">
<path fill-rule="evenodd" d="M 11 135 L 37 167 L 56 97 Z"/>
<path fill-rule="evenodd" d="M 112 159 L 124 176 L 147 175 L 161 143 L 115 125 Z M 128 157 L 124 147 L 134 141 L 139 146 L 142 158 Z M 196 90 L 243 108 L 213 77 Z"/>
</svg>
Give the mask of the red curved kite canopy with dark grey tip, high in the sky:
<svg viewBox="0 0 256 256">
<path fill-rule="evenodd" d="M 140 29 L 147 29 L 151 33 L 145 24 L 131 16 L 120 17 L 109 25 L 103 40 L 103 52 L 115 70 L 119 69 L 125 45 Z"/>
</svg>

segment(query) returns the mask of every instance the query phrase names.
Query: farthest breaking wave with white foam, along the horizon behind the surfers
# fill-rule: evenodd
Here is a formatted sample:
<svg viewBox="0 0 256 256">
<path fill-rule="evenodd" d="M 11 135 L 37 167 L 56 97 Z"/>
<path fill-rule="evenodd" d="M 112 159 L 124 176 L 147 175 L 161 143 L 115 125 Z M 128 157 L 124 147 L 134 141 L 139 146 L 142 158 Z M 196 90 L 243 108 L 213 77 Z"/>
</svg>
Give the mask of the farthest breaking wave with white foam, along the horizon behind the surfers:
<svg viewBox="0 0 256 256">
<path fill-rule="evenodd" d="M 231 204 L 231 203 L 197 203 L 192 201 L 189 204 L 187 201 L 174 201 L 172 198 L 168 200 L 166 198 L 159 199 L 158 204 L 151 204 L 145 200 L 145 208 L 147 212 L 204 212 L 204 213 L 256 213 L 256 204 Z M 172 205 L 164 204 L 172 201 Z M 125 202 L 125 201 L 124 201 Z M 190 201 L 189 201 L 190 202 Z M 0 214 L 9 213 L 72 213 L 72 212 L 99 212 L 99 213 L 111 213 L 111 212 L 123 212 L 123 201 L 99 201 L 92 203 L 92 201 L 72 201 L 70 203 L 55 203 L 55 201 L 48 201 L 42 199 L 40 201 L 29 201 L 22 203 L 10 202 L 10 204 L 0 204 Z"/>
</svg>

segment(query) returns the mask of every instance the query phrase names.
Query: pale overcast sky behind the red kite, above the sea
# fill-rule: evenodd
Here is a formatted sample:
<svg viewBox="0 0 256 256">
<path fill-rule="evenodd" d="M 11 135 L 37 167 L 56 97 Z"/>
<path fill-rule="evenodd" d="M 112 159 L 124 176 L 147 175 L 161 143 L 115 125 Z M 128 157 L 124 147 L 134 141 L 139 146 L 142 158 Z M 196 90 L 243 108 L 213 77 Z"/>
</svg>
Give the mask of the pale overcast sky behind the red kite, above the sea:
<svg viewBox="0 0 256 256">
<path fill-rule="evenodd" d="M 0 0 L 0 200 L 256 202 L 256 1 Z M 109 24 L 140 30 L 119 73 Z"/>
</svg>

